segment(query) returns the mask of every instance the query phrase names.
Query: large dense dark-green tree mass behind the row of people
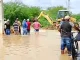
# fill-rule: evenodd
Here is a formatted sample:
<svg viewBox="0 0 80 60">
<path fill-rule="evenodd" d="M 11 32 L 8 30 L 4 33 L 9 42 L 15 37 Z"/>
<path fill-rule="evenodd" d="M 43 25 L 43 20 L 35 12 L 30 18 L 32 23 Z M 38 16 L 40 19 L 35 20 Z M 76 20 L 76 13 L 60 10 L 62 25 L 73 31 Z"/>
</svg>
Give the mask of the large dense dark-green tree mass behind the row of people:
<svg viewBox="0 0 80 60">
<path fill-rule="evenodd" d="M 8 2 L 4 3 L 4 18 L 10 19 L 11 24 L 16 18 L 20 21 L 23 19 L 32 19 L 41 12 L 39 7 L 29 7 L 22 3 Z"/>
</svg>

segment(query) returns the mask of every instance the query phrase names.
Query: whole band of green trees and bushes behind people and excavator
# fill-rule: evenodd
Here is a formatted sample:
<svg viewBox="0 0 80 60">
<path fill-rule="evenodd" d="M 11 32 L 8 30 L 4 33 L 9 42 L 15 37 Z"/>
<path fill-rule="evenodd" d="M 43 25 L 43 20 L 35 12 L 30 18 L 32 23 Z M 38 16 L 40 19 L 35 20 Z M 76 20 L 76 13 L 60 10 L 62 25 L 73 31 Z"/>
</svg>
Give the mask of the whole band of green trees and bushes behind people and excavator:
<svg viewBox="0 0 80 60">
<path fill-rule="evenodd" d="M 55 21 L 57 17 L 58 10 L 66 9 L 62 6 L 58 7 L 49 7 L 47 10 L 44 10 L 46 14 L 49 15 L 49 17 Z M 15 21 L 16 18 L 19 18 L 19 20 L 22 22 L 23 19 L 30 19 L 33 21 L 35 17 L 38 17 L 40 12 L 42 10 L 40 7 L 29 7 L 27 5 L 24 5 L 23 3 L 13 3 L 8 2 L 4 3 L 4 18 L 10 19 L 11 24 Z M 77 19 L 77 21 L 80 21 L 80 14 L 72 15 Z M 39 22 L 42 24 L 43 27 L 50 26 L 49 22 L 44 17 L 39 18 Z"/>
</svg>

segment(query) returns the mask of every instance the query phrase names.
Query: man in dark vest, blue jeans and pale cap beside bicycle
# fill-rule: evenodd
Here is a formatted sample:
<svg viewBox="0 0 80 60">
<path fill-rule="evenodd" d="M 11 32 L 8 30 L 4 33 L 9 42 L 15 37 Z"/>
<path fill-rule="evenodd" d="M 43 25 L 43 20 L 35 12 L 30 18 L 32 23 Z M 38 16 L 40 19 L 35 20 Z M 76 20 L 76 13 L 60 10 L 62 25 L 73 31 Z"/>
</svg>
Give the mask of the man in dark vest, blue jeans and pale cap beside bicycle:
<svg viewBox="0 0 80 60">
<path fill-rule="evenodd" d="M 64 49 L 67 47 L 69 56 L 71 55 L 71 31 L 72 28 L 80 31 L 75 27 L 74 23 L 70 22 L 70 17 L 65 16 L 65 21 L 60 24 L 60 34 L 61 34 L 61 54 L 64 54 Z"/>
</svg>

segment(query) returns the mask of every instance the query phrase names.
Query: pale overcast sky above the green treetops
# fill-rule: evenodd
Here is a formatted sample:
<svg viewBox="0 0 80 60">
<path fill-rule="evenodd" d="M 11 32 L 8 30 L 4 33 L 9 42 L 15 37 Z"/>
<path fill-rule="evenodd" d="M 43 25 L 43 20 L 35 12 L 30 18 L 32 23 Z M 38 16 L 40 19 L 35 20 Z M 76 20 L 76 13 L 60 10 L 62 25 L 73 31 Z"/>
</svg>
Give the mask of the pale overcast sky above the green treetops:
<svg viewBox="0 0 80 60">
<path fill-rule="evenodd" d="M 3 2 L 21 1 L 29 6 L 40 6 L 44 9 L 51 6 L 64 6 L 67 7 L 67 0 L 3 0 Z M 70 10 L 73 13 L 80 13 L 80 0 L 70 1 Z"/>
</svg>

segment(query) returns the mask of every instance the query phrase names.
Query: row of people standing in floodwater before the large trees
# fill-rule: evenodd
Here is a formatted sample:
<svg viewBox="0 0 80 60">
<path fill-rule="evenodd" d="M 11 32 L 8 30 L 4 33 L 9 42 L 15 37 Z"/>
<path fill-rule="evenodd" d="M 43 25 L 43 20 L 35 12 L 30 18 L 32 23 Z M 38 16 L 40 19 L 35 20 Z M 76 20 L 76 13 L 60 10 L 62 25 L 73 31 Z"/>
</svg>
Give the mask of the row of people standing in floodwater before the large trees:
<svg viewBox="0 0 80 60">
<path fill-rule="evenodd" d="M 21 23 L 19 19 L 16 18 L 12 26 L 10 25 L 10 21 L 8 19 L 7 21 L 5 21 L 5 24 L 4 24 L 4 33 L 6 35 L 10 35 L 11 31 L 13 31 L 15 35 L 20 35 L 22 30 L 23 35 L 27 35 L 27 34 L 30 35 L 31 26 L 34 28 L 35 33 L 39 33 L 41 24 L 38 22 L 37 19 L 35 19 L 33 23 L 30 22 L 29 19 L 27 20 L 24 19 Z"/>
</svg>

